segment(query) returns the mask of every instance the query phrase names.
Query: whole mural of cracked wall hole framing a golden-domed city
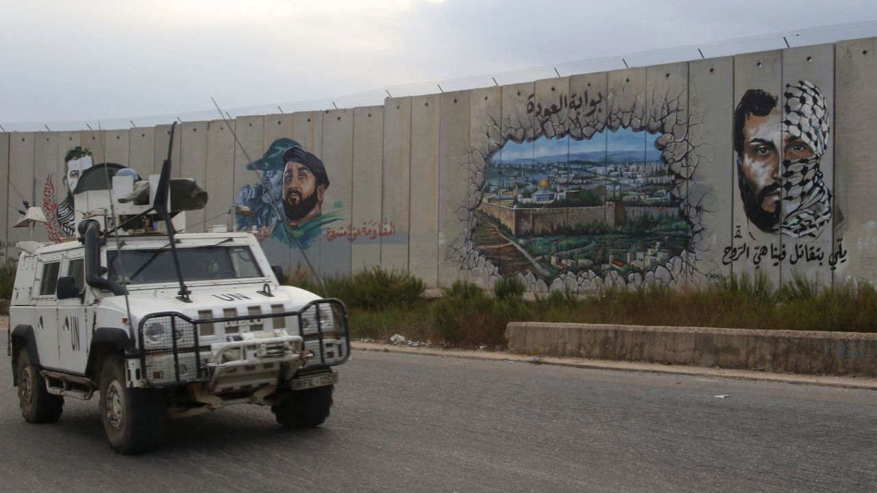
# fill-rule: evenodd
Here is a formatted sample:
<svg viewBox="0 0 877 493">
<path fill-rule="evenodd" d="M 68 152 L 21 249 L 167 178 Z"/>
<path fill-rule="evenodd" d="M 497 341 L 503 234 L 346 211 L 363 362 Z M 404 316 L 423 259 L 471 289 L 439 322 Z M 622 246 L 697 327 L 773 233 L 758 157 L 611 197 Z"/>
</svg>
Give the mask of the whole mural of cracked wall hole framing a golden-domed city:
<svg viewBox="0 0 877 493">
<path fill-rule="evenodd" d="M 646 109 L 626 84 L 545 107 L 531 95 L 503 111 L 502 132 L 485 115 L 470 229 L 448 257 L 536 291 L 682 282 L 701 214 L 687 204 L 685 96 L 652 91 Z"/>
</svg>

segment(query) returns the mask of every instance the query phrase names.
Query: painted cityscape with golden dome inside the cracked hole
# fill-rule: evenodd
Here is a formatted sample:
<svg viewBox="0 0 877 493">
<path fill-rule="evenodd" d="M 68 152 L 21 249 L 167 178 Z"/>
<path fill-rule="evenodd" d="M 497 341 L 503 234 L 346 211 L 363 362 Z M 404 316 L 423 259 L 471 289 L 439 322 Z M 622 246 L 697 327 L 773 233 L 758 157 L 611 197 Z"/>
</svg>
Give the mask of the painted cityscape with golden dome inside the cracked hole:
<svg viewBox="0 0 877 493">
<path fill-rule="evenodd" d="M 688 224 L 657 134 L 507 142 L 487 164 L 474 241 L 500 274 L 645 273 L 681 254 Z"/>
</svg>

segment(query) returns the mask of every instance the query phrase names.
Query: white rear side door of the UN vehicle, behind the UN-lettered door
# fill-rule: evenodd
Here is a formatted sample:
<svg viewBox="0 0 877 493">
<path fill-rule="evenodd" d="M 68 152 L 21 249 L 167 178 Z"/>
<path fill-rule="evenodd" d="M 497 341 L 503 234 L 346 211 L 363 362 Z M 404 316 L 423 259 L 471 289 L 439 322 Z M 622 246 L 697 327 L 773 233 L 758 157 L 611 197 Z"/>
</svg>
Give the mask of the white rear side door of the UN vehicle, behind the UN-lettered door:
<svg viewBox="0 0 877 493">
<path fill-rule="evenodd" d="M 58 347 L 58 298 L 55 286 L 61 272 L 61 253 L 46 254 L 37 261 L 33 280 L 34 306 L 33 335 L 37 339 L 39 364 L 46 368 L 61 368 Z"/>
</svg>

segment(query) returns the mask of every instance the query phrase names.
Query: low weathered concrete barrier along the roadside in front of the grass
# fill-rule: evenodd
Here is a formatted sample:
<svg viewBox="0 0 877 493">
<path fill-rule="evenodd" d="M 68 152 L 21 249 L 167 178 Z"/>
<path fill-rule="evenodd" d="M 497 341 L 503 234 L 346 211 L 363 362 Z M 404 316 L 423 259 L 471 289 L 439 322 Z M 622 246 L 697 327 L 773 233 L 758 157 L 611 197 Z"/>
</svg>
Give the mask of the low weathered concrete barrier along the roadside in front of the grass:
<svg viewBox="0 0 877 493">
<path fill-rule="evenodd" d="M 877 333 L 512 322 L 505 335 L 517 354 L 877 376 Z"/>
</svg>

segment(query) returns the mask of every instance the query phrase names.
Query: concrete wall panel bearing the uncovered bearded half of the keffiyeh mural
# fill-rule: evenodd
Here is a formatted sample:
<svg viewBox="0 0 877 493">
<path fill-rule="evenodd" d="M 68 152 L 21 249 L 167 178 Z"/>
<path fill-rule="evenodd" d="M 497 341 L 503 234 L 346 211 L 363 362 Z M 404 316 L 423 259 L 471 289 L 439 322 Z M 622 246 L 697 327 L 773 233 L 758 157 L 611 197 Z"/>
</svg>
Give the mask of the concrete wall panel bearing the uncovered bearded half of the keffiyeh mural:
<svg viewBox="0 0 877 493">
<path fill-rule="evenodd" d="M 754 54 L 741 54 L 734 57 L 734 106 L 740 104 L 741 98 L 747 93 L 750 97 L 757 96 L 762 91 L 770 96 L 781 96 L 782 82 L 782 52 L 780 50 L 771 52 L 762 52 Z M 781 113 L 774 111 L 766 117 L 754 120 L 753 123 L 759 125 L 753 126 L 749 141 L 752 139 L 762 139 L 766 135 L 775 135 L 781 129 Z M 765 135 L 756 136 L 755 133 L 760 132 Z M 745 144 L 747 139 L 743 139 Z M 766 139 L 771 140 L 771 139 Z M 743 146 L 743 153 L 735 154 L 734 178 L 734 231 L 733 231 L 733 247 L 731 248 L 731 272 L 736 275 L 756 275 L 763 273 L 767 279 L 774 284 L 779 285 L 781 275 L 781 240 L 780 234 L 775 230 L 777 219 L 769 218 L 774 216 L 779 218 L 779 192 L 775 195 L 776 200 L 766 197 L 759 201 L 757 198 L 749 199 L 747 204 L 752 204 L 747 208 L 744 205 L 744 198 L 741 196 L 744 190 L 750 196 L 758 196 L 759 190 L 764 190 L 760 185 L 755 184 L 752 179 L 754 175 L 762 176 L 760 182 L 775 182 L 779 179 L 779 149 L 774 144 L 766 143 L 765 146 L 758 146 L 757 140 L 752 141 L 748 146 L 751 154 L 750 161 L 752 165 L 747 165 L 746 146 Z M 759 151 L 761 149 L 761 151 Z M 755 157 L 755 153 L 762 152 L 767 154 L 762 158 Z M 742 164 L 740 164 L 742 163 Z M 759 165 L 762 163 L 764 166 Z M 749 170 L 747 173 L 746 170 Z M 775 180 L 766 175 L 770 175 L 771 171 L 760 173 L 759 169 L 773 169 Z M 744 175 L 741 179 L 741 173 Z M 750 178 L 747 178 L 747 175 Z M 740 184 L 745 183 L 746 188 L 741 188 Z M 767 185 L 772 186 L 772 185 Z M 756 190 L 758 189 L 758 190 Z M 760 203 L 758 205 L 756 203 Z M 776 205 L 774 205 L 776 204 Z M 760 219 L 762 217 L 766 219 Z M 759 227 L 759 224 L 762 226 Z M 767 230 L 767 231 L 765 231 Z"/>
</svg>

